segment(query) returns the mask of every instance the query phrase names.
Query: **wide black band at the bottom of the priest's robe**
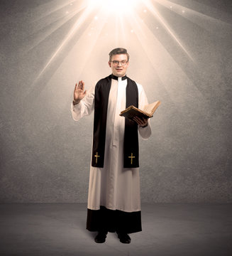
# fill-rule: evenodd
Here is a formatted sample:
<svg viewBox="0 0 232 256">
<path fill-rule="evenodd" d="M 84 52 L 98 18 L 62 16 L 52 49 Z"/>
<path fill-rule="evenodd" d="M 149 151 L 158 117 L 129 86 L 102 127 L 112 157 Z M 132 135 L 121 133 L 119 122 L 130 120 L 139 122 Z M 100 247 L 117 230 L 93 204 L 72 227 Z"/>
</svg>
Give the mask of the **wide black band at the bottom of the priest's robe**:
<svg viewBox="0 0 232 256">
<path fill-rule="evenodd" d="M 87 209 L 87 230 L 104 232 L 136 233 L 142 231 L 141 211 L 127 213 L 122 210 Z"/>
</svg>

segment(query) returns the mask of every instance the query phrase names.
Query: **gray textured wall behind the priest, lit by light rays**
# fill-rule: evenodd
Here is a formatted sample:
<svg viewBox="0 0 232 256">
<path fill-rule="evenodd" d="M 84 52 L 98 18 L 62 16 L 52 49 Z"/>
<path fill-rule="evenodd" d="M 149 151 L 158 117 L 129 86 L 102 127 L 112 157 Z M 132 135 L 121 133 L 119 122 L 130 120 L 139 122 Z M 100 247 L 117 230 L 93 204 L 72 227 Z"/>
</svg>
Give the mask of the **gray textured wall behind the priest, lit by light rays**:
<svg viewBox="0 0 232 256">
<path fill-rule="evenodd" d="M 0 202 L 87 202 L 93 117 L 72 120 L 72 92 L 123 46 L 128 76 L 162 102 L 140 141 L 142 201 L 231 203 L 231 1 L 155 4 L 166 23 L 142 4 L 116 23 L 71 3 L 0 1 Z"/>
</svg>

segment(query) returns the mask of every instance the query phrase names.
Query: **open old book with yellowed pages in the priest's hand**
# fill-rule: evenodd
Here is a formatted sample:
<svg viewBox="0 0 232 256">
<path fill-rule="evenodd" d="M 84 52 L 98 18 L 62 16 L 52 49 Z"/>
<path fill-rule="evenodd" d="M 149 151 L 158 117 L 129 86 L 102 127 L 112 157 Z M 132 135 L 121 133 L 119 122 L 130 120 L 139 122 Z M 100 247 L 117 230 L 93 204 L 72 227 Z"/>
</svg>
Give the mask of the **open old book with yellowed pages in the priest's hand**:
<svg viewBox="0 0 232 256">
<path fill-rule="evenodd" d="M 120 115 L 122 117 L 127 117 L 128 119 L 133 119 L 133 117 L 135 116 L 150 118 L 153 117 L 153 114 L 160 105 L 160 103 L 160 100 L 158 100 L 156 102 L 145 105 L 143 110 L 139 110 L 137 107 L 130 106 L 127 107 L 126 110 L 121 111 Z"/>
</svg>

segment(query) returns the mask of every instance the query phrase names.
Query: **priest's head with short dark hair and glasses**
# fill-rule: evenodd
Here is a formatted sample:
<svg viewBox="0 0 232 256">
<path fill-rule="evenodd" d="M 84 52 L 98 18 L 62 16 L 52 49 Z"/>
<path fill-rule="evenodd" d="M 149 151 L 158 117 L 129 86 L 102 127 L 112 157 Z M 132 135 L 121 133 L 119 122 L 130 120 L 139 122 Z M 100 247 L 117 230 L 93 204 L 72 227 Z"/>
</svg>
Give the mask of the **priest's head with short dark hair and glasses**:
<svg viewBox="0 0 232 256">
<path fill-rule="evenodd" d="M 115 48 L 109 53 L 109 67 L 113 75 L 123 77 L 129 65 L 129 55 L 124 48 Z"/>
</svg>

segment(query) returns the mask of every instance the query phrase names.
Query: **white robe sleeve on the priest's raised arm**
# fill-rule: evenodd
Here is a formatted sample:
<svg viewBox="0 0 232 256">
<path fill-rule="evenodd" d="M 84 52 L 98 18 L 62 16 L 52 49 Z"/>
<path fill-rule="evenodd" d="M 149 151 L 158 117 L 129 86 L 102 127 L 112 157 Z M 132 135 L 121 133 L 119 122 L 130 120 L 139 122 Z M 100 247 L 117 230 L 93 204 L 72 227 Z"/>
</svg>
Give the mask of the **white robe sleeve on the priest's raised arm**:
<svg viewBox="0 0 232 256">
<path fill-rule="evenodd" d="M 79 119 L 85 115 L 91 114 L 94 110 L 94 92 L 95 85 L 90 88 L 90 90 L 87 92 L 87 95 L 79 102 L 79 104 L 71 104 L 72 118 L 75 121 L 79 121 Z"/>
</svg>

